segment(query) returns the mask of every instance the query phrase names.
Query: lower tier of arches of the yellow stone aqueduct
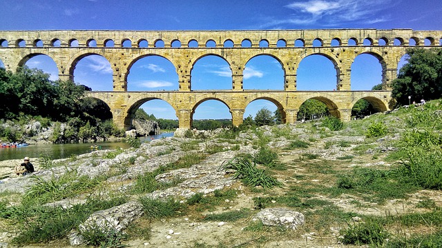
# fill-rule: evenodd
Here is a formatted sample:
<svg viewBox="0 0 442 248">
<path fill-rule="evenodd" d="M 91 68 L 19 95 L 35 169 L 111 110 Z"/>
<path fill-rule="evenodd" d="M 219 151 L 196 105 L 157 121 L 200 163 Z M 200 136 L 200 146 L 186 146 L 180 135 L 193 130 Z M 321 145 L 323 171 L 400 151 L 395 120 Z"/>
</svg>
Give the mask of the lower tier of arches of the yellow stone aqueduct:
<svg viewBox="0 0 442 248">
<path fill-rule="evenodd" d="M 391 91 L 267 91 L 267 90 L 217 90 L 217 91 L 157 91 L 157 92 L 86 92 L 85 97 L 104 101 L 113 114 L 117 127 L 128 130 L 136 110 L 147 101 L 161 99 L 175 110 L 180 128 L 192 127 L 193 113 L 204 101 L 217 100 L 229 107 L 233 125 L 242 123 L 244 112 L 252 101 L 265 99 L 274 103 L 282 116 L 283 123 L 296 122 L 300 105 L 308 99 L 316 99 L 327 105 L 330 114 L 349 121 L 356 101 L 365 99 L 379 112 L 387 111 L 394 105 Z"/>
</svg>

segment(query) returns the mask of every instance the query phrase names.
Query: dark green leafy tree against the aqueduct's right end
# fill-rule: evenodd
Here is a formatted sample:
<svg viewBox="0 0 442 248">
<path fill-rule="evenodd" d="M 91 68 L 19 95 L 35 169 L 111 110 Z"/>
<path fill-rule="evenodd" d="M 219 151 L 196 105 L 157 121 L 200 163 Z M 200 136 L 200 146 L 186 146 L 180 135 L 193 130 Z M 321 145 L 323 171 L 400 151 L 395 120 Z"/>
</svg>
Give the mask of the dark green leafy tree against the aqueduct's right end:
<svg viewBox="0 0 442 248">
<path fill-rule="evenodd" d="M 392 83 L 392 96 L 399 104 L 412 100 L 439 99 L 442 93 L 442 51 L 409 49 L 407 62 Z"/>
</svg>

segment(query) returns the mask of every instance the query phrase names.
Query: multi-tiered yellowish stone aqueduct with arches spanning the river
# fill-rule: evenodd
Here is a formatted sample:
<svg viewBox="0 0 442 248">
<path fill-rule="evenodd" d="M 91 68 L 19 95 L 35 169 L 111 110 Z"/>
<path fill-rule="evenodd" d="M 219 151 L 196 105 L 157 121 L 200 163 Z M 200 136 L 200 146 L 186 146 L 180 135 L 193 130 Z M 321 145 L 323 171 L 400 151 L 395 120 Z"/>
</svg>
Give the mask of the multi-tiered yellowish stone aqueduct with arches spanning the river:
<svg viewBox="0 0 442 248">
<path fill-rule="evenodd" d="M 299 107 L 307 99 L 322 101 L 334 116 L 348 121 L 352 107 L 359 99 L 366 99 L 377 110 L 389 110 L 392 103 L 390 83 L 396 79 L 398 62 L 405 50 L 410 48 L 409 42 L 414 41 L 416 47 L 440 48 L 440 39 L 442 31 L 410 29 L 0 31 L 0 59 L 7 70 L 15 71 L 33 56 L 46 54 L 57 64 L 59 79 L 66 80 L 73 79 L 75 66 L 85 56 L 104 56 L 111 63 L 114 90 L 87 92 L 86 95 L 106 102 L 115 123 L 124 128 L 130 127 L 137 108 L 152 99 L 162 99 L 171 104 L 180 121 L 180 128 L 191 127 L 196 107 L 211 99 L 222 101 L 229 107 L 233 125 L 242 123 L 247 104 L 257 99 L 275 103 L 286 123 L 296 121 Z M 249 41 L 251 45 L 243 47 L 244 41 Z M 131 45 L 127 46 L 128 43 Z M 189 47 L 189 43 L 198 45 Z M 295 43 L 302 43 L 302 46 L 295 47 Z M 175 47 L 176 44 L 179 47 Z M 325 56 L 334 64 L 336 91 L 296 90 L 298 65 L 302 59 L 313 54 Z M 372 54 L 378 59 L 382 67 L 383 90 L 350 90 L 352 63 L 359 54 Z M 162 56 L 173 63 L 179 81 L 177 91 L 127 91 L 127 76 L 131 66 L 137 60 L 151 55 Z M 232 72 L 231 90 L 191 90 L 193 65 L 208 55 L 220 56 L 229 63 Z M 243 90 L 245 65 L 259 55 L 272 56 L 280 62 L 285 76 L 284 90 Z"/>
</svg>

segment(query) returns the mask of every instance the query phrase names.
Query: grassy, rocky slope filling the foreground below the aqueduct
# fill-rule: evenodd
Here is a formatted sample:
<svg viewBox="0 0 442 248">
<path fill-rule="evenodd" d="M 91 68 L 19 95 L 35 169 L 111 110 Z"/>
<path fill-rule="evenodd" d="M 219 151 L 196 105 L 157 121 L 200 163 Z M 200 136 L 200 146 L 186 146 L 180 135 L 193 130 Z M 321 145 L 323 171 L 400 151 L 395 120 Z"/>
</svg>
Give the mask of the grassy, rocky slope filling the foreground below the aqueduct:
<svg viewBox="0 0 442 248">
<path fill-rule="evenodd" d="M 327 117 L 195 130 L 139 148 L 36 161 L 33 176 L 0 184 L 0 236 L 49 247 L 69 245 L 73 231 L 105 247 L 436 247 L 441 103 L 350 123 Z M 128 205 L 140 212 L 130 221 L 81 228 L 94 213 Z M 305 224 L 291 230 L 253 220 L 274 207 L 298 211 Z"/>
</svg>

